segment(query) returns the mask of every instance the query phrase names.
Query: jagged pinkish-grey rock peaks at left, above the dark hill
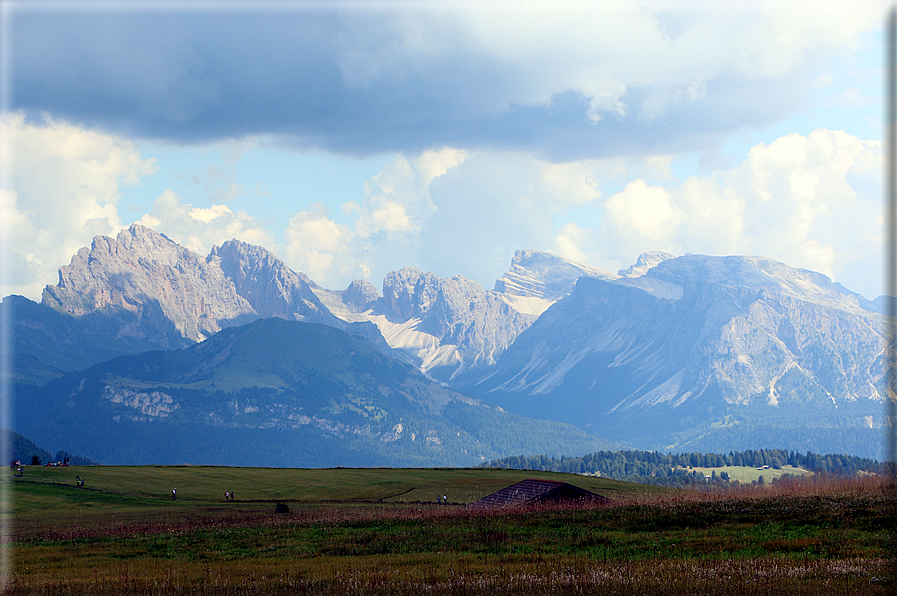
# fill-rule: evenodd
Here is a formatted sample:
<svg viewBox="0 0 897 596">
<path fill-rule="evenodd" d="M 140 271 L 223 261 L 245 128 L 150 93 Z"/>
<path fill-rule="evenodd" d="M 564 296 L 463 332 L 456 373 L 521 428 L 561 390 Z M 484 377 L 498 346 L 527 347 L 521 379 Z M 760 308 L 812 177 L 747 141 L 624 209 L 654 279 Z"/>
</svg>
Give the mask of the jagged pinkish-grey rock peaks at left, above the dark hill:
<svg viewBox="0 0 897 596">
<path fill-rule="evenodd" d="M 134 224 L 116 238 L 97 236 L 47 286 L 43 304 L 72 315 L 124 309 L 135 315 L 120 336 L 152 338 L 171 325 L 188 342 L 259 318 L 321 323 L 388 351 L 376 326 L 336 317 L 310 286 L 268 250 L 230 240 L 206 258 Z M 170 347 L 182 347 L 176 340 Z"/>
</svg>

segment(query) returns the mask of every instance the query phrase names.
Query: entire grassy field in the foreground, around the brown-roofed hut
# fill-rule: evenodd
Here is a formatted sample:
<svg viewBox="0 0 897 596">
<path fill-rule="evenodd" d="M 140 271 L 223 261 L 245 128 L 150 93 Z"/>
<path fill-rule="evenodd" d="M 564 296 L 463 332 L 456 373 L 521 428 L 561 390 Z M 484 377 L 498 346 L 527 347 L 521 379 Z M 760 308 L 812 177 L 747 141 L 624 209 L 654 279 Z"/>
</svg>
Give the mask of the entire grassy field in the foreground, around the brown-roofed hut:
<svg viewBox="0 0 897 596">
<path fill-rule="evenodd" d="M 615 503 L 462 506 L 531 477 Z M 510 470 L 92 467 L 28 468 L 12 489 L 10 594 L 831 596 L 897 587 L 894 496 L 875 479 L 724 494 Z M 238 500 L 225 503 L 225 490 Z M 453 504 L 437 506 L 437 494 Z M 290 513 L 275 514 L 278 501 Z"/>
</svg>

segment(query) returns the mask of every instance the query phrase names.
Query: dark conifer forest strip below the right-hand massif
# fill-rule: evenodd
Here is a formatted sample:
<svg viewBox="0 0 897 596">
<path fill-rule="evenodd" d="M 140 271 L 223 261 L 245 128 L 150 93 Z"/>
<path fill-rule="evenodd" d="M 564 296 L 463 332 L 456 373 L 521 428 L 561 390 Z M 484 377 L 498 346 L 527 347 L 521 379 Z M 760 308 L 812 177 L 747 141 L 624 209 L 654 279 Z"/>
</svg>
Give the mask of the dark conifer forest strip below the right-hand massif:
<svg viewBox="0 0 897 596">
<path fill-rule="evenodd" d="M 605 478 L 644 484 L 689 484 L 703 482 L 704 475 L 689 468 L 725 468 L 725 466 L 783 466 L 803 468 L 816 473 L 853 476 L 859 472 L 880 473 L 883 464 L 869 458 L 785 449 L 760 449 L 720 453 L 659 453 L 657 451 L 598 451 L 582 457 L 518 455 L 481 464 L 484 468 L 540 470 L 570 474 L 598 474 Z"/>
</svg>

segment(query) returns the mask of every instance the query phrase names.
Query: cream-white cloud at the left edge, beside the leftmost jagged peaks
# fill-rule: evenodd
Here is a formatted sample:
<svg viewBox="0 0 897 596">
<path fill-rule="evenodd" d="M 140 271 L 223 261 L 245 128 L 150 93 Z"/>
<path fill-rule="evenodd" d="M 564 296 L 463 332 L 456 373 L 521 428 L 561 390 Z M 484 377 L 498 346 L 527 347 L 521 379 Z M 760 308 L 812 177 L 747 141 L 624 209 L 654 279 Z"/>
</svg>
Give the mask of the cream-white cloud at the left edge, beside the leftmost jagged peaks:
<svg viewBox="0 0 897 596">
<path fill-rule="evenodd" d="M 8 114 L 0 136 L 10 151 L 0 228 L 12 269 L 2 294 L 39 299 L 79 248 L 122 228 L 120 185 L 139 184 L 156 166 L 130 141 L 51 118 L 33 124 Z"/>
</svg>

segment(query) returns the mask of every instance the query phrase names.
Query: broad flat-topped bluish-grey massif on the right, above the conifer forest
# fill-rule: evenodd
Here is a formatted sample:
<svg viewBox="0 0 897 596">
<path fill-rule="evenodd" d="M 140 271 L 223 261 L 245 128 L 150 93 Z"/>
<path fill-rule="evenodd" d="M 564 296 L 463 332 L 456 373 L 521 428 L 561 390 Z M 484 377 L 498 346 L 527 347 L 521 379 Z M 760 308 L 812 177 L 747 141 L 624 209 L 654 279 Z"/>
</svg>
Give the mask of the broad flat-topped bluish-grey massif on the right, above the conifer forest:
<svg viewBox="0 0 897 596">
<path fill-rule="evenodd" d="M 468 390 L 655 447 L 760 427 L 871 439 L 884 321 L 866 302 L 770 259 L 686 255 L 634 280 L 580 279 Z"/>
</svg>

